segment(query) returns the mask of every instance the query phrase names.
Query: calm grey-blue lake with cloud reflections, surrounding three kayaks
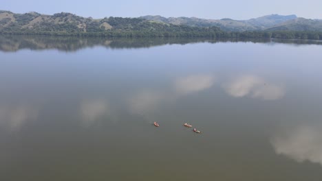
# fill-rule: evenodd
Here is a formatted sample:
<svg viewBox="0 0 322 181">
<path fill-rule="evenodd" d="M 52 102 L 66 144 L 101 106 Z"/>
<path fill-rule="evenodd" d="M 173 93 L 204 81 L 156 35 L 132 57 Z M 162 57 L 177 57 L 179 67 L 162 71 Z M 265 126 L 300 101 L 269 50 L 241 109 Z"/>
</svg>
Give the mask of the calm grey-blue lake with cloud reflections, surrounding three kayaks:
<svg viewBox="0 0 322 181">
<path fill-rule="evenodd" d="M 0 36 L 0 58 L 0 180 L 322 179 L 321 41 Z"/>
</svg>

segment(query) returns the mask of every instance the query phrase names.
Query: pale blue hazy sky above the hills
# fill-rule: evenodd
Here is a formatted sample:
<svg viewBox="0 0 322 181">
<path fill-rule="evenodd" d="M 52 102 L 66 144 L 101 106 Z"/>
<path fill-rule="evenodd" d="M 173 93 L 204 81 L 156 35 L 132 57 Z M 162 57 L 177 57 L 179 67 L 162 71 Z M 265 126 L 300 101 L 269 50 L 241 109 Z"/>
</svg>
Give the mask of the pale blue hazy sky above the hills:
<svg viewBox="0 0 322 181">
<path fill-rule="evenodd" d="M 268 14 L 297 14 L 308 19 L 322 19 L 322 0 L 3 0 L 0 10 L 16 13 L 34 11 L 41 14 L 71 12 L 93 18 L 162 15 L 251 19 Z"/>
</svg>

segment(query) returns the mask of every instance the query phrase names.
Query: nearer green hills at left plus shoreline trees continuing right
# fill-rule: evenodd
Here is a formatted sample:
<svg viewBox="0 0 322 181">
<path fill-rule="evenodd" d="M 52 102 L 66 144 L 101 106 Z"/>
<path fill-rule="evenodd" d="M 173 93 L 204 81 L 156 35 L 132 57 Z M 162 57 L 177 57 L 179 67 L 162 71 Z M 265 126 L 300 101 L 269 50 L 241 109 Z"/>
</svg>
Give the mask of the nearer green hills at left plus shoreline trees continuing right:
<svg viewBox="0 0 322 181">
<path fill-rule="evenodd" d="M 280 17 L 279 17 L 280 18 Z M 230 21 L 223 20 L 223 21 Z M 104 37 L 208 37 L 208 38 L 299 38 L 322 39 L 314 31 L 223 31 L 215 26 L 174 25 L 142 18 L 92 19 L 70 13 L 52 16 L 36 12 L 14 14 L 0 11 L 0 34 Z"/>
</svg>

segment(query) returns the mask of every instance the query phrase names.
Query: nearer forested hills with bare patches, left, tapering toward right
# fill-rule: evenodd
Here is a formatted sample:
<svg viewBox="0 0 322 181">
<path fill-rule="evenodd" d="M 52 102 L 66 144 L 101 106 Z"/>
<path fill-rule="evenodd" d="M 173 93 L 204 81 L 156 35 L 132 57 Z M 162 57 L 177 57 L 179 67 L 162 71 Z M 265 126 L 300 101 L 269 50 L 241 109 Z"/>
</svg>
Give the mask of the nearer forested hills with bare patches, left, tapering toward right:
<svg viewBox="0 0 322 181">
<path fill-rule="evenodd" d="M 218 27 L 191 27 L 156 23 L 138 18 L 92 19 L 66 12 L 44 15 L 0 11 L 2 34 L 49 34 L 74 36 L 212 36 Z"/>
</svg>

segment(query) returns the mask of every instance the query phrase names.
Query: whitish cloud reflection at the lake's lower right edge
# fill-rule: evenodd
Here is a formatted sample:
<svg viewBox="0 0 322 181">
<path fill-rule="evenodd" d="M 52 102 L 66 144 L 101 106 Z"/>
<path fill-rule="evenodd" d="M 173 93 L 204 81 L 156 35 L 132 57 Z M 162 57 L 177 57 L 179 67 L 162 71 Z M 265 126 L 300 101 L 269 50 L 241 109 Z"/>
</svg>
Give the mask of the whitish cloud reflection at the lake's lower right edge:
<svg viewBox="0 0 322 181">
<path fill-rule="evenodd" d="M 308 160 L 322 165 L 322 132 L 320 126 L 299 125 L 283 129 L 271 138 L 277 154 L 303 162 Z"/>
</svg>

